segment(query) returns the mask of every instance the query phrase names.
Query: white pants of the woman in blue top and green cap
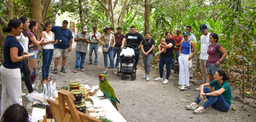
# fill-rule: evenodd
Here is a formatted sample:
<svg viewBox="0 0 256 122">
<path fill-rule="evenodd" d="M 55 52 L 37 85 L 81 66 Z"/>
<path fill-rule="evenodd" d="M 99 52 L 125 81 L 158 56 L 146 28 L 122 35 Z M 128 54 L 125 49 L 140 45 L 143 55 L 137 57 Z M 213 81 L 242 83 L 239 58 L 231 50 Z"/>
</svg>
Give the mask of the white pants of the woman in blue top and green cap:
<svg viewBox="0 0 256 122">
<path fill-rule="evenodd" d="M 190 75 L 190 68 L 189 68 L 189 54 L 180 54 L 179 56 L 179 66 L 180 66 L 180 75 L 179 75 L 179 84 L 189 86 L 189 75 Z"/>
</svg>

